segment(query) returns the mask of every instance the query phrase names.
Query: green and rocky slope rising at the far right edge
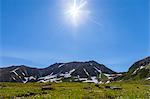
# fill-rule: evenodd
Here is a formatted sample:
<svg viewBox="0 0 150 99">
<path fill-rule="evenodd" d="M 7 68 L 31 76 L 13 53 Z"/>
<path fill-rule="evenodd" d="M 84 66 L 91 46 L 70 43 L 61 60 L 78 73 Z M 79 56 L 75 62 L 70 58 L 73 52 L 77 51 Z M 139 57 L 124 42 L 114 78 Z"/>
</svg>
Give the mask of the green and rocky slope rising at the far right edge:
<svg viewBox="0 0 150 99">
<path fill-rule="evenodd" d="M 150 80 L 150 57 L 135 62 L 119 80 Z"/>
</svg>

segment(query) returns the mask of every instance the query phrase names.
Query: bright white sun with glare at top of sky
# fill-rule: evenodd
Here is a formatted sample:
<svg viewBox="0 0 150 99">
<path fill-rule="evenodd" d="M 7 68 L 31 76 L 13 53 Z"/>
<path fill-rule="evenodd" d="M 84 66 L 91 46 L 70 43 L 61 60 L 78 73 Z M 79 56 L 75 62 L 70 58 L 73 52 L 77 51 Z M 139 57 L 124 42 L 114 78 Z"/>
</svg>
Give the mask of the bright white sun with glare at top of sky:
<svg viewBox="0 0 150 99">
<path fill-rule="evenodd" d="M 86 0 L 73 0 L 67 11 L 67 15 L 75 26 L 81 21 L 81 17 L 87 13 L 83 8 L 86 5 Z"/>
</svg>

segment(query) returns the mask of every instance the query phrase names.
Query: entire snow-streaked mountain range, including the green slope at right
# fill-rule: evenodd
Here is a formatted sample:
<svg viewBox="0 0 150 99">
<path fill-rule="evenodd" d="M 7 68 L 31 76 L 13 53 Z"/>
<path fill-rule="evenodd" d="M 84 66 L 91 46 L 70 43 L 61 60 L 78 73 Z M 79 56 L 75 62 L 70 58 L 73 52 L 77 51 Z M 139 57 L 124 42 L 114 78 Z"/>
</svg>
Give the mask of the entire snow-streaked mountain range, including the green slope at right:
<svg viewBox="0 0 150 99">
<path fill-rule="evenodd" d="M 0 68 L 0 82 L 93 82 L 149 80 L 150 57 L 135 62 L 127 72 L 117 73 L 96 61 L 55 63 L 46 68 L 25 65 Z"/>
</svg>

